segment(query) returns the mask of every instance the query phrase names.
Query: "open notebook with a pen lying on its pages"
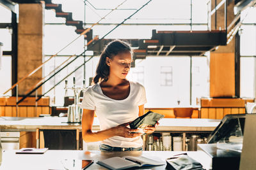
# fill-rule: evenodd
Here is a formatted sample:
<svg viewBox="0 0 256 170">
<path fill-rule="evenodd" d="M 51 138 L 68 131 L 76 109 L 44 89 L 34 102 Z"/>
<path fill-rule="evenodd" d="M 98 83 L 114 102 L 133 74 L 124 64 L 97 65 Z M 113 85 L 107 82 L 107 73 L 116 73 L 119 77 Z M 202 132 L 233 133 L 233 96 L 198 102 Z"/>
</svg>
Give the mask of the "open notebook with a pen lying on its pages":
<svg viewBox="0 0 256 170">
<path fill-rule="evenodd" d="M 146 157 L 111 157 L 109 159 L 99 160 L 97 162 L 100 166 L 107 167 L 109 169 L 127 169 L 131 167 L 142 166 L 161 166 L 165 162 L 163 160 L 148 159 Z"/>
</svg>

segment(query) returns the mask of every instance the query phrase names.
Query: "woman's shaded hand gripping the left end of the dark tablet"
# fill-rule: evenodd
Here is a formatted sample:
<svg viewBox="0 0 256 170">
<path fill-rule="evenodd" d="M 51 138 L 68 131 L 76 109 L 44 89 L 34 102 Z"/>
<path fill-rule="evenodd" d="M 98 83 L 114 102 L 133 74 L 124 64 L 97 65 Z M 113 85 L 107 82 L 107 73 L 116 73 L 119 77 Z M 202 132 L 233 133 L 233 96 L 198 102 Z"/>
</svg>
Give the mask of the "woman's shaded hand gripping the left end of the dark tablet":
<svg viewBox="0 0 256 170">
<path fill-rule="evenodd" d="M 122 136 L 124 138 L 135 138 L 137 136 L 141 136 L 139 133 L 139 129 L 130 129 L 127 127 L 129 123 L 121 124 L 116 127 L 113 127 L 113 131 L 115 132 L 116 136 Z"/>
</svg>

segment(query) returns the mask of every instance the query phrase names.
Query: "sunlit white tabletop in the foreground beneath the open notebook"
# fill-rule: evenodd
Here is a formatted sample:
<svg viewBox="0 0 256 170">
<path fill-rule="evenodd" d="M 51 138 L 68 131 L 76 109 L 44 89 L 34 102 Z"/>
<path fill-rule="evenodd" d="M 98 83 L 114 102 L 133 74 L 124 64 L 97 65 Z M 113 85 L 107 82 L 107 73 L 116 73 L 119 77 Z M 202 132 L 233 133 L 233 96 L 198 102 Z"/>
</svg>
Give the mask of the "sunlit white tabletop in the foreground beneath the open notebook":
<svg viewBox="0 0 256 170">
<path fill-rule="evenodd" d="M 148 158 L 162 159 L 163 161 L 184 152 L 159 152 L 159 151 L 132 151 L 132 152 L 100 152 L 100 151 L 83 151 L 83 150 L 48 150 L 44 154 L 32 155 L 32 154 L 15 154 L 15 150 L 6 150 L 3 152 L 2 165 L 0 169 L 17 170 L 17 169 L 37 169 L 37 170 L 48 170 L 48 169 L 64 169 L 63 164 L 65 161 L 73 159 L 83 160 L 92 159 L 94 163 L 88 169 L 106 169 L 99 166 L 95 162 L 97 160 L 107 159 L 109 157 L 123 157 L 125 155 L 131 156 L 143 156 Z M 204 152 L 187 152 L 189 157 L 200 162 L 206 169 L 211 169 L 211 158 Z M 164 166 L 152 166 L 144 167 L 144 169 L 165 169 Z M 143 168 L 142 168 L 143 169 Z M 81 169 L 79 169 L 81 170 Z"/>
</svg>

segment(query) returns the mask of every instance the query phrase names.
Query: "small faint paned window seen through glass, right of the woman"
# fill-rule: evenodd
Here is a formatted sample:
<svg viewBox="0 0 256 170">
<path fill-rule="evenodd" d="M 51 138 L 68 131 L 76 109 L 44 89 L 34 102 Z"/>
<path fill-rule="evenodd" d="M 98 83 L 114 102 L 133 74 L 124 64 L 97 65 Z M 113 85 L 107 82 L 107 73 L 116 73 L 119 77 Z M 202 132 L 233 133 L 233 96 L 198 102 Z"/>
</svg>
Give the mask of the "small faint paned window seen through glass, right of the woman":
<svg viewBox="0 0 256 170">
<path fill-rule="evenodd" d="M 161 86 L 172 86 L 172 66 L 161 67 Z"/>
</svg>

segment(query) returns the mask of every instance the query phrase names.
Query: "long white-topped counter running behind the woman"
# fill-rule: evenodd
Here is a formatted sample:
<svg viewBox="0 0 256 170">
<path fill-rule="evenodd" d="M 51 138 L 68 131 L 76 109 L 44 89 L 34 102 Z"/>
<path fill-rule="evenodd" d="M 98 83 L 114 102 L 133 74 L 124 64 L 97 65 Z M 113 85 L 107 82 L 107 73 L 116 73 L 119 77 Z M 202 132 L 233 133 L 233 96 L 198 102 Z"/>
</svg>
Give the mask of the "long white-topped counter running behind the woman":
<svg viewBox="0 0 256 170">
<path fill-rule="evenodd" d="M 36 129 L 79 129 L 81 124 L 67 124 L 67 117 L 0 117 L 1 131 L 36 131 Z M 156 127 L 156 132 L 196 132 L 213 131 L 220 120 L 204 118 L 163 118 Z M 93 131 L 99 131 L 99 120 L 93 121 Z"/>
</svg>

